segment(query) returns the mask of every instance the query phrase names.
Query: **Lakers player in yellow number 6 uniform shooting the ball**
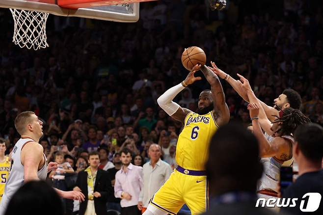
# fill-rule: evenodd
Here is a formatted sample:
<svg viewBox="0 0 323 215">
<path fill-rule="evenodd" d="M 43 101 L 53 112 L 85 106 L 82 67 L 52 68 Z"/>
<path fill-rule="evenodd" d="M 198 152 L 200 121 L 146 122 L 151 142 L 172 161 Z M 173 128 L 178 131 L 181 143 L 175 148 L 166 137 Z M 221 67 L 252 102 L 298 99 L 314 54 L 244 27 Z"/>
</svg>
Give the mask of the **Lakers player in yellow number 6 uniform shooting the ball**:
<svg viewBox="0 0 323 215">
<path fill-rule="evenodd" d="M 199 69 L 211 84 L 211 90 L 201 92 L 195 113 L 181 108 L 172 100 L 189 84 L 201 80 L 200 77 L 194 77 Z M 185 81 L 168 89 L 157 102 L 168 115 L 182 122 L 184 129 L 176 147 L 178 167 L 154 194 L 143 215 L 176 215 L 184 204 L 187 204 L 192 215 L 203 213 L 208 208 L 208 182 L 204 164 L 209 142 L 217 128 L 226 124 L 230 118 L 221 83 L 208 67 L 195 65 Z"/>
</svg>

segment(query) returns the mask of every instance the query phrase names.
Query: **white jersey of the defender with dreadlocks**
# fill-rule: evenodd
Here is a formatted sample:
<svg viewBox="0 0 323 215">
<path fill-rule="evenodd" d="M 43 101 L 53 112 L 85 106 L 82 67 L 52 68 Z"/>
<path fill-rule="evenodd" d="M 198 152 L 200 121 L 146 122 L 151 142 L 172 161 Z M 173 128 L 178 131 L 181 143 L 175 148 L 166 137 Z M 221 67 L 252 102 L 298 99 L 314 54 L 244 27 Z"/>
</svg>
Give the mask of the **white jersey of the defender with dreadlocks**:
<svg viewBox="0 0 323 215">
<path fill-rule="evenodd" d="M 265 136 L 269 143 L 274 139 L 274 137 L 267 133 L 265 133 Z M 294 143 L 294 138 L 292 136 L 285 135 L 282 137 Z M 277 161 L 273 157 L 261 158 L 260 162 L 264 165 L 264 172 L 261 179 L 258 181 L 257 190 L 271 189 L 278 192 L 279 190 L 277 188 L 280 180 L 280 167 L 283 163 Z"/>
</svg>

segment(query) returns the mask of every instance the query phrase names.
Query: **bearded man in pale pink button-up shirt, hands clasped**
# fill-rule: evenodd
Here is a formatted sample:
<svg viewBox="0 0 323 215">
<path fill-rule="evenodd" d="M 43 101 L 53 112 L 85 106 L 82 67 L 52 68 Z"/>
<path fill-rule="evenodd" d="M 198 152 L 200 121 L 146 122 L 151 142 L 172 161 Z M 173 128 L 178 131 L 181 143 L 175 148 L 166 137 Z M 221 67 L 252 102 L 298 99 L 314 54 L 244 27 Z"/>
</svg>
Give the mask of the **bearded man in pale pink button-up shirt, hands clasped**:
<svg viewBox="0 0 323 215">
<path fill-rule="evenodd" d="M 140 215 L 137 208 L 142 185 L 142 167 L 131 163 L 131 151 L 121 152 L 122 168 L 115 174 L 114 196 L 121 198 L 121 215 Z"/>
</svg>

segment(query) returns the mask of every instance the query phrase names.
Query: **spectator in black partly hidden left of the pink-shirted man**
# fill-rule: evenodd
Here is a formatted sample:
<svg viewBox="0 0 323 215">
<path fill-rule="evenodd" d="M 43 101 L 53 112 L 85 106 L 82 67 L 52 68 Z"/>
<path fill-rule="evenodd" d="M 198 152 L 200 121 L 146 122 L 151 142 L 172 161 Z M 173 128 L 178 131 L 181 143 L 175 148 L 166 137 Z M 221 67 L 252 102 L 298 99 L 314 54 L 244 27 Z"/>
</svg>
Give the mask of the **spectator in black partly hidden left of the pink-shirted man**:
<svg viewBox="0 0 323 215">
<path fill-rule="evenodd" d="M 111 169 L 108 169 L 108 174 L 111 179 L 111 185 L 114 188 L 115 184 L 115 174 L 121 169 L 122 163 L 120 160 L 120 153 L 116 152 L 113 156 L 113 165 L 114 167 Z M 107 208 L 110 210 L 116 210 L 120 212 L 121 207 L 120 207 L 120 198 L 116 198 L 114 195 L 110 195 L 108 197 L 108 203 L 107 203 Z"/>
</svg>

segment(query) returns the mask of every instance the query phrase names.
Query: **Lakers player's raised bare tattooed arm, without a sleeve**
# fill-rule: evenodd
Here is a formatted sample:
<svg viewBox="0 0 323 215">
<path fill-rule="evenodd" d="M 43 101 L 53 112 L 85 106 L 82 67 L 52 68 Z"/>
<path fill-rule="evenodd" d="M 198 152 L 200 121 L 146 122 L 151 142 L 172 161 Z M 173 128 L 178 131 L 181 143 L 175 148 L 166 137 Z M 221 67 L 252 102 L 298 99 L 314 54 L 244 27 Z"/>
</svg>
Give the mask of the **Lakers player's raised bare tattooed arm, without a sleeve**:
<svg viewBox="0 0 323 215">
<path fill-rule="evenodd" d="M 201 67 L 201 71 L 204 74 L 206 80 L 211 84 L 214 113 L 216 116 L 216 123 L 221 126 L 227 124 L 230 119 L 230 111 L 225 103 L 225 95 L 222 89 L 222 85 L 217 75 L 212 72 L 207 66 Z"/>
</svg>

